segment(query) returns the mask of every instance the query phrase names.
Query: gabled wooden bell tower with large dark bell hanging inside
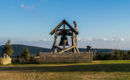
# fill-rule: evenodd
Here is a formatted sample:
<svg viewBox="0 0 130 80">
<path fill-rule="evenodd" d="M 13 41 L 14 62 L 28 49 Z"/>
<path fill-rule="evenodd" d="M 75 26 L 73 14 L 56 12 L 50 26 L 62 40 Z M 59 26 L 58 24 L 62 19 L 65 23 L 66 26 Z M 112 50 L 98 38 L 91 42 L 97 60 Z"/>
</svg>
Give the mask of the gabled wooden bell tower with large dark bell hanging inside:
<svg viewBox="0 0 130 80">
<path fill-rule="evenodd" d="M 78 50 L 77 35 L 79 34 L 77 30 L 77 23 L 74 21 L 74 27 L 72 27 L 66 20 L 63 20 L 55 29 L 53 29 L 50 34 L 54 36 L 54 43 L 51 49 L 51 54 L 63 54 L 64 52 L 72 52 L 80 54 Z M 61 37 L 60 43 L 58 45 L 58 37 Z M 71 45 L 68 43 L 68 37 L 71 37 Z"/>
</svg>

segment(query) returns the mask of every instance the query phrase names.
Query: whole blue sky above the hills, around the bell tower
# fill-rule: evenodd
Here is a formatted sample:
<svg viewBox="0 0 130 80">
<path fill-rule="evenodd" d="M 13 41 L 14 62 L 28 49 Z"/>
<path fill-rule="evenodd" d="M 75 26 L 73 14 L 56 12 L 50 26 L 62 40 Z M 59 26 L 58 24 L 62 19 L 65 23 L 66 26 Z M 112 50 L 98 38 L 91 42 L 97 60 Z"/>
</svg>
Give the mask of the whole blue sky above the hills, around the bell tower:
<svg viewBox="0 0 130 80">
<path fill-rule="evenodd" d="M 63 19 L 77 21 L 79 47 L 130 49 L 130 0 L 0 0 L 0 44 L 40 46 Z"/>
</svg>

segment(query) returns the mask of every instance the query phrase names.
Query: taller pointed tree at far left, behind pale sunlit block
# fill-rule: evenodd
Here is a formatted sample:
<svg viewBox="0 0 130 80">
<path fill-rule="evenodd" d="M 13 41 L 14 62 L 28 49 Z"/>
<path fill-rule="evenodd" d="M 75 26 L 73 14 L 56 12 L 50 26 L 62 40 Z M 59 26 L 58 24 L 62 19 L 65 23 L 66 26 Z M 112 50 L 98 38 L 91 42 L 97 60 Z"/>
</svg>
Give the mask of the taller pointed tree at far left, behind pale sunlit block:
<svg viewBox="0 0 130 80">
<path fill-rule="evenodd" d="M 4 45 L 4 48 L 2 50 L 2 55 L 4 55 L 5 53 L 8 56 L 12 56 L 13 55 L 13 47 L 10 45 L 10 40 L 8 40 L 8 42 Z"/>
</svg>

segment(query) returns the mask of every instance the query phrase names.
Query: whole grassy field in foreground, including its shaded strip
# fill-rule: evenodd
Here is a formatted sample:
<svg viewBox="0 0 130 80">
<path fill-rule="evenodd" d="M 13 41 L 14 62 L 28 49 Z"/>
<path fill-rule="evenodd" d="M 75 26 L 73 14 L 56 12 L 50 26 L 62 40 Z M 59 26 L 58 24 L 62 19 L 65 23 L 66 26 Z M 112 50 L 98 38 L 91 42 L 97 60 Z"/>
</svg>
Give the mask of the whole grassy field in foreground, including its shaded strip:
<svg viewBox="0 0 130 80">
<path fill-rule="evenodd" d="M 130 80 L 130 60 L 0 65 L 0 80 Z"/>
</svg>

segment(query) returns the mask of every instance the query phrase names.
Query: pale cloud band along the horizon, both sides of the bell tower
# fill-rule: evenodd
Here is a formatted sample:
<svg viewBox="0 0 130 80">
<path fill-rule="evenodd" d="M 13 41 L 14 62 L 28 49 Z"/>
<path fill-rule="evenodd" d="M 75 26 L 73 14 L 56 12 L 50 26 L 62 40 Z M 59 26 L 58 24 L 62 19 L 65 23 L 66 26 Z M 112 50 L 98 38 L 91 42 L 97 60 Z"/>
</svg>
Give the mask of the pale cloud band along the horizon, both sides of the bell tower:
<svg viewBox="0 0 130 80">
<path fill-rule="evenodd" d="M 0 40 L 0 45 L 4 45 L 7 42 L 7 39 Z M 69 42 L 71 44 L 71 42 Z M 11 44 L 24 44 L 30 46 L 38 46 L 51 48 L 53 45 L 53 38 L 44 38 L 38 41 L 28 41 L 28 40 L 13 40 L 11 39 Z M 110 49 L 130 49 L 130 41 L 125 40 L 124 38 L 79 38 L 78 47 L 85 48 L 87 45 L 92 46 L 93 48 L 110 48 Z"/>
</svg>

